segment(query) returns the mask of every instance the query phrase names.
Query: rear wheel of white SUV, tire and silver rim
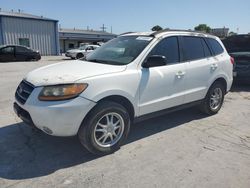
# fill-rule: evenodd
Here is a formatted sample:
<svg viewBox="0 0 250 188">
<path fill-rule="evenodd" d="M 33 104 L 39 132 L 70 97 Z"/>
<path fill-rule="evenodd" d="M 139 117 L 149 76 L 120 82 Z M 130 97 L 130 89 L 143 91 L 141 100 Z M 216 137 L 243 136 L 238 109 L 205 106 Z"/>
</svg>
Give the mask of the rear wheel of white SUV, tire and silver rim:
<svg viewBox="0 0 250 188">
<path fill-rule="evenodd" d="M 221 82 L 215 82 L 208 90 L 200 110 L 208 115 L 214 115 L 222 107 L 226 89 Z"/>
</svg>

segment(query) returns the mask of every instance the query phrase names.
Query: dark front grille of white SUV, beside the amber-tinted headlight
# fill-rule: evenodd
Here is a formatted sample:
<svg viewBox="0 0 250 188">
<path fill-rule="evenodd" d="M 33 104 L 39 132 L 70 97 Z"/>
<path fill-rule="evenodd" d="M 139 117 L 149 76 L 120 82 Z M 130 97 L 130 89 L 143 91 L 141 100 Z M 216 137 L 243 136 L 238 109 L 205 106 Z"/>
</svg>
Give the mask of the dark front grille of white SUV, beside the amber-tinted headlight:
<svg viewBox="0 0 250 188">
<path fill-rule="evenodd" d="M 21 104 L 25 104 L 33 90 L 34 86 L 23 80 L 17 87 L 15 93 L 16 100 Z"/>
</svg>

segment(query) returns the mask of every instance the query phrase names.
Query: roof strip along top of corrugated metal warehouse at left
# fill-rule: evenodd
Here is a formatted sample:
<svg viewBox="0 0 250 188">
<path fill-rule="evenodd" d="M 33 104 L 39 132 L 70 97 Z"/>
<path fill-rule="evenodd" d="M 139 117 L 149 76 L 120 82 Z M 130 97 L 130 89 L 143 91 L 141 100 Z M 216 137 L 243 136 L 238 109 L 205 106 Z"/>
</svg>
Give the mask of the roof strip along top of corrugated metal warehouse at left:
<svg viewBox="0 0 250 188">
<path fill-rule="evenodd" d="M 36 15 L 32 15 L 32 14 L 27 14 L 27 13 L 23 13 L 23 12 L 5 12 L 5 11 L 0 11 L 0 16 L 58 22 L 58 20 L 46 18 L 46 17 L 43 17 L 43 16 L 36 16 Z"/>
</svg>

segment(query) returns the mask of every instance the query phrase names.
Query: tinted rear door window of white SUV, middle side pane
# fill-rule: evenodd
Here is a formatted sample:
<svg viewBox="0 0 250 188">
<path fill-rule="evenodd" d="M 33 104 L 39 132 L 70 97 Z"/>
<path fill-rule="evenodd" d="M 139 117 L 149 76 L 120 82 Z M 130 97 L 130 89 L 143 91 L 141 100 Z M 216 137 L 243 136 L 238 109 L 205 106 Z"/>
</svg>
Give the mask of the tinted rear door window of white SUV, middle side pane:
<svg viewBox="0 0 250 188">
<path fill-rule="evenodd" d="M 184 61 L 197 60 L 205 57 L 202 38 L 183 37 L 183 58 Z"/>
</svg>

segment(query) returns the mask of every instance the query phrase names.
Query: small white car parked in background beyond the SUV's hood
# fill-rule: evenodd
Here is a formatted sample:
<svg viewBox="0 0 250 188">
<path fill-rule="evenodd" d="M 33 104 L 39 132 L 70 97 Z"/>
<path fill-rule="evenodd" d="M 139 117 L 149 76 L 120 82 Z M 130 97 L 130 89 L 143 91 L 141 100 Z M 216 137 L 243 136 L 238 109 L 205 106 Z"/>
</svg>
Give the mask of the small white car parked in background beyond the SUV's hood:
<svg viewBox="0 0 250 188">
<path fill-rule="evenodd" d="M 66 57 L 70 57 L 71 59 L 80 59 L 85 57 L 88 53 L 94 51 L 96 48 L 100 47 L 99 45 L 94 44 L 86 44 L 81 47 L 73 50 L 68 50 L 65 53 Z"/>
</svg>

